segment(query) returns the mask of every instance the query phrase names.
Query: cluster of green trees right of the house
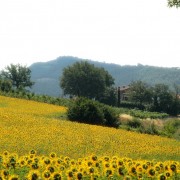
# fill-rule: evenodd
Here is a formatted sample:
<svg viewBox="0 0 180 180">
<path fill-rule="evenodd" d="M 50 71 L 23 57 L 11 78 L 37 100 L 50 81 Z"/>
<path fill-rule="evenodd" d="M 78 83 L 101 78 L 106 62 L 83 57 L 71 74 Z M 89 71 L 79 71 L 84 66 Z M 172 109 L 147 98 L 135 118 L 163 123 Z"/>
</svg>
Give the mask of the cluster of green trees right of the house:
<svg viewBox="0 0 180 180">
<path fill-rule="evenodd" d="M 132 82 L 129 89 L 129 101 L 145 106 L 150 111 L 180 113 L 180 87 L 174 85 L 174 91 L 165 84 L 150 86 L 142 81 Z"/>
</svg>

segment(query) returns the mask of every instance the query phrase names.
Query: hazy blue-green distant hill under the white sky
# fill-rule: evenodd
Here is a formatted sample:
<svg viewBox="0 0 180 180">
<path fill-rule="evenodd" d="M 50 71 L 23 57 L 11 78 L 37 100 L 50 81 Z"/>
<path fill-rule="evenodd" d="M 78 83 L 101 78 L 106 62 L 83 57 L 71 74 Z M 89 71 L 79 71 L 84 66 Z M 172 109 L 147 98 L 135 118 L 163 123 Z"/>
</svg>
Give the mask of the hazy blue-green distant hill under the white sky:
<svg viewBox="0 0 180 180">
<path fill-rule="evenodd" d="M 62 56 L 48 62 L 37 62 L 29 68 L 32 71 L 31 77 L 35 82 L 32 92 L 37 94 L 46 94 L 51 96 L 62 96 L 62 90 L 59 86 L 59 79 L 63 69 L 77 61 L 84 61 L 71 56 Z M 106 69 L 115 79 L 115 86 L 128 85 L 132 81 L 142 80 L 148 84 L 163 83 L 171 88 L 173 84 L 180 85 L 180 68 L 163 68 L 155 66 L 130 66 L 102 63 L 87 60 L 97 67 Z"/>
</svg>

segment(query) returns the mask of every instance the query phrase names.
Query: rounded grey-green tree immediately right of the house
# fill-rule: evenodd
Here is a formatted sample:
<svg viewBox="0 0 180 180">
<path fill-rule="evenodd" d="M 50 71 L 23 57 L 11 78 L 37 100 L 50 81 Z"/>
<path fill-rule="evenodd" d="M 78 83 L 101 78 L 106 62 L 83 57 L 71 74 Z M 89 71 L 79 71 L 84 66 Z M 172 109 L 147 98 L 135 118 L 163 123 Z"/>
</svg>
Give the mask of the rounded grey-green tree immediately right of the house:
<svg viewBox="0 0 180 180">
<path fill-rule="evenodd" d="M 151 102 L 151 89 L 142 81 L 134 81 L 130 84 L 129 98 L 140 105 Z"/>
</svg>

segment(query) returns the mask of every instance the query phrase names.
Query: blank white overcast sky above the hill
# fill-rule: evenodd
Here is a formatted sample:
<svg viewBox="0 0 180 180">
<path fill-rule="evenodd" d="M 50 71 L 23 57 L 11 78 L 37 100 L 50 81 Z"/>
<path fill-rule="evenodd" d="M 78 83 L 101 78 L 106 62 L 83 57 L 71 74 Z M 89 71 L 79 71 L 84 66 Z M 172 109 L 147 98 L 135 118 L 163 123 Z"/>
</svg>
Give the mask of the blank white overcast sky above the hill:
<svg viewBox="0 0 180 180">
<path fill-rule="evenodd" d="M 0 69 L 59 56 L 180 67 L 179 22 L 167 0 L 1 0 Z"/>
</svg>

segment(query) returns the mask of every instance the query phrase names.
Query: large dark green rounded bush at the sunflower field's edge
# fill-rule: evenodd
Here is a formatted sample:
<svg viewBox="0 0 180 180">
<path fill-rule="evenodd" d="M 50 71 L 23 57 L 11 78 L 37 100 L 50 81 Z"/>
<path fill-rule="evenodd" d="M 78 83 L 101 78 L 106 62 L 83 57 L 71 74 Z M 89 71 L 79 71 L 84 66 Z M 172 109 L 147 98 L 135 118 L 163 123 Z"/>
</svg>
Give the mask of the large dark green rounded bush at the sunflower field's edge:
<svg viewBox="0 0 180 180">
<path fill-rule="evenodd" d="M 86 98 L 78 98 L 69 106 L 68 119 L 80 123 L 118 127 L 118 118 L 112 108 Z"/>
</svg>

